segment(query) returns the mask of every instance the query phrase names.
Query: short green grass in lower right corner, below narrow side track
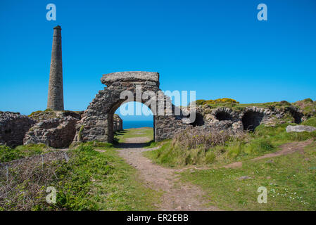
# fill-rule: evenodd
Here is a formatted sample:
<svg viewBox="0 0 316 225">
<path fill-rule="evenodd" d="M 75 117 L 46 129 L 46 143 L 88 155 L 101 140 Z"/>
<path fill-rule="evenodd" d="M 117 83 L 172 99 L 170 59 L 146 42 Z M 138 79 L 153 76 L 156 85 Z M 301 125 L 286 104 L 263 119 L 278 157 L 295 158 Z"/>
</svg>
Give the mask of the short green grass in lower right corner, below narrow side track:
<svg viewBox="0 0 316 225">
<path fill-rule="evenodd" d="M 187 169 L 181 176 L 182 181 L 201 186 L 213 205 L 225 210 L 316 210 L 315 162 L 314 141 L 304 155 L 246 161 L 239 169 Z M 267 188 L 267 204 L 257 202 L 260 186 Z"/>
</svg>

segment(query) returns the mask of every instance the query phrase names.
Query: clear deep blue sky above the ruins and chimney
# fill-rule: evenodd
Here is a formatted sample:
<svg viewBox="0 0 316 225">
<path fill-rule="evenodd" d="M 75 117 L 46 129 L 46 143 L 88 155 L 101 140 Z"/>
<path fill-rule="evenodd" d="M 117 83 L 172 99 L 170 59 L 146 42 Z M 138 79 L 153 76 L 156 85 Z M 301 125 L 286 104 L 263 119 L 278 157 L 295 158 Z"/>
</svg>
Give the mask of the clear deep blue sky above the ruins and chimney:
<svg viewBox="0 0 316 225">
<path fill-rule="evenodd" d="M 46 4 L 57 20 L 46 20 Z M 267 21 L 257 6 L 267 5 Z M 118 71 L 160 89 L 241 103 L 316 98 L 316 1 L 0 1 L 0 110 L 46 108 L 53 27 L 63 36 L 67 110 L 85 110 Z"/>
</svg>

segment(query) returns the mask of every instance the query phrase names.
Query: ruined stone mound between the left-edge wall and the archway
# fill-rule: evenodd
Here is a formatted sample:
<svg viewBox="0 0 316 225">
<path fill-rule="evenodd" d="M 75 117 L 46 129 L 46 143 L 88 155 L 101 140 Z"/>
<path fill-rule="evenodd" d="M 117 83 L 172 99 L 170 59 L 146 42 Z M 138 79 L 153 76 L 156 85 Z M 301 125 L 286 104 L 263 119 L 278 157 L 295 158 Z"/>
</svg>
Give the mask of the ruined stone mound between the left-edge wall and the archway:
<svg viewBox="0 0 316 225">
<path fill-rule="evenodd" d="M 75 136 L 77 121 L 75 117 L 67 116 L 38 122 L 27 131 L 23 144 L 44 143 L 53 148 L 66 148 Z"/>
</svg>

